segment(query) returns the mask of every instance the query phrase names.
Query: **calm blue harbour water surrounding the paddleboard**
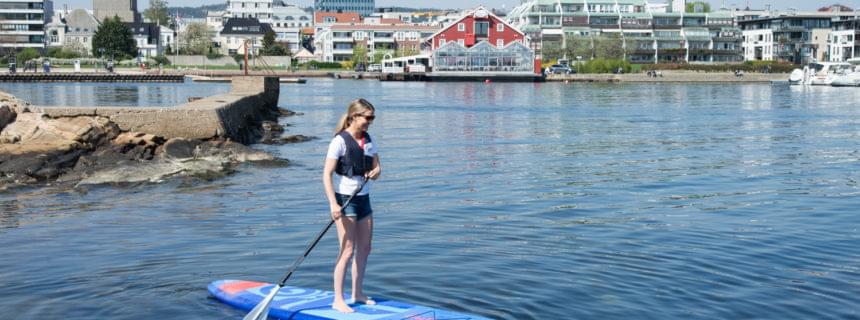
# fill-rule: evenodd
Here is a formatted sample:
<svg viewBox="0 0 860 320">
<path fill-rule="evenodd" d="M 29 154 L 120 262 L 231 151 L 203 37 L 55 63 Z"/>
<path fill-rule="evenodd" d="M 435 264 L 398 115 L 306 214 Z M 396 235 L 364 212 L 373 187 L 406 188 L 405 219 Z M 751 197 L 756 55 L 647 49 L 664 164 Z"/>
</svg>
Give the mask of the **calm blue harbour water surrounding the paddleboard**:
<svg viewBox="0 0 860 320">
<path fill-rule="evenodd" d="M 116 104 L 105 89 L 48 87 L 2 89 Z M 153 105 L 227 90 L 144 87 L 172 92 Z M 356 97 L 378 108 L 383 164 L 372 296 L 500 319 L 860 318 L 860 90 L 315 79 L 281 90 L 305 113 L 282 119 L 287 134 L 322 137 L 257 146 L 288 168 L 0 194 L 0 318 L 241 318 L 206 285 L 276 281 L 324 226 L 327 137 Z M 289 284 L 330 289 L 336 245 L 330 233 Z"/>
</svg>

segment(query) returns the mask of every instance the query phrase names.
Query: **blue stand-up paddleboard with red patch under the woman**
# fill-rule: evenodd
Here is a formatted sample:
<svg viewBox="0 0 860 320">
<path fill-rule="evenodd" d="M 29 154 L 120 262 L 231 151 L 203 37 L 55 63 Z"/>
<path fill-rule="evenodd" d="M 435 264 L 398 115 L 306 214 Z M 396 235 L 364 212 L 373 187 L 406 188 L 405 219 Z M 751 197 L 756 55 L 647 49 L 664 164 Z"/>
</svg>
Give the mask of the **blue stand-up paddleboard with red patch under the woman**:
<svg viewBox="0 0 860 320">
<path fill-rule="evenodd" d="M 271 283 L 218 280 L 209 284 L 209 294 L 226 304 L 250 311 L 266 298 L 272 288 L 274 285 Z M 284 286 L 272 300 L 269 317 L 289 320 L 489 320 L 485 317 L 378 298 L 373 298 L 375 305 L 350 304 L 355 312 L 341 313 L 331 308 L 333 299 L 334 293 L 330 291 Z"/>
</svg>

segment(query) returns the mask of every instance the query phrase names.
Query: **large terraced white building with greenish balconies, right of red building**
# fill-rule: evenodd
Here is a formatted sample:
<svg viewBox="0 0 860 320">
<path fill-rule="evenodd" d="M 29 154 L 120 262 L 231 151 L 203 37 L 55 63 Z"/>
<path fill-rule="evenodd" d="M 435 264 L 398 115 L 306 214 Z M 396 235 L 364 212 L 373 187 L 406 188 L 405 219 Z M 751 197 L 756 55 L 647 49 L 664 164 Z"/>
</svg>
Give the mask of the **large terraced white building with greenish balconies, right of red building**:
<svg viewBox="0 0 860 320">
<path fill-rule="evenodd" d="M 507 16 L 544 59 L 620 58 L 635 63 L 738 62 L 731 11 L 685 12 L 684 1 L 531 0 Z M 607 56 L 608 55 L 608 56 Z"/>
</svg>

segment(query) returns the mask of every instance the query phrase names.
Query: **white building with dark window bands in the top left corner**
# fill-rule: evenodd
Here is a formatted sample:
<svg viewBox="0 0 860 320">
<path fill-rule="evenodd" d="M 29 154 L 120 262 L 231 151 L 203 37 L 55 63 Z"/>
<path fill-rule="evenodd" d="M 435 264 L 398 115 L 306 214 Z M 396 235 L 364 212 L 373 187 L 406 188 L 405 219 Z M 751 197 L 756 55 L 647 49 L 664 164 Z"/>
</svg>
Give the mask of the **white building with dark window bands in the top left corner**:
<svg viewBox="0 0 860 320">
<path fill-rule="evenodd" d="M 45 48 L 45 1 L 0 0 L 0 48 Z"/>
</svg>

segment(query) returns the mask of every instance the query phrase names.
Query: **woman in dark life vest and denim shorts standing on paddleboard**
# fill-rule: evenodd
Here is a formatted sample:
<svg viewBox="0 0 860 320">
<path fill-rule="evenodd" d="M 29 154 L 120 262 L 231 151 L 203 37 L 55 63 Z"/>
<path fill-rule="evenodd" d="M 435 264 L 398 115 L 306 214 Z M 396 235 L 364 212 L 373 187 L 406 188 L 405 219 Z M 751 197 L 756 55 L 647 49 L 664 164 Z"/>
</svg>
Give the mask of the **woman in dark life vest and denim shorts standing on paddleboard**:
<svg viewBox="0 0 860 320">
<path fill-rule="evenodd" d="M 334 266 L 334 301 L 332 308 L 340 312 L 354 310 L 343 299 L 343 279 L 352 260 L 352 299 L 357 304 L 375 304 L 362 291 L 367 256 L 373 235 L 373 209 L 370 208 L 370 184 L 367 179 L 379 178 L 379 155 L 367 129 L 373 120 L 375 109 L 364 99 L 354 100 L 341 117 L 335 136 L 328 147 L 323 169 L 323 186 L 331 207 L 331 218 L 337 226 L 340 254 Z M 337 176 L 336 183 L 332 174 Z M 355 190 L 364 188 L 355 199 L 341 208 Z"/>
</svg>

